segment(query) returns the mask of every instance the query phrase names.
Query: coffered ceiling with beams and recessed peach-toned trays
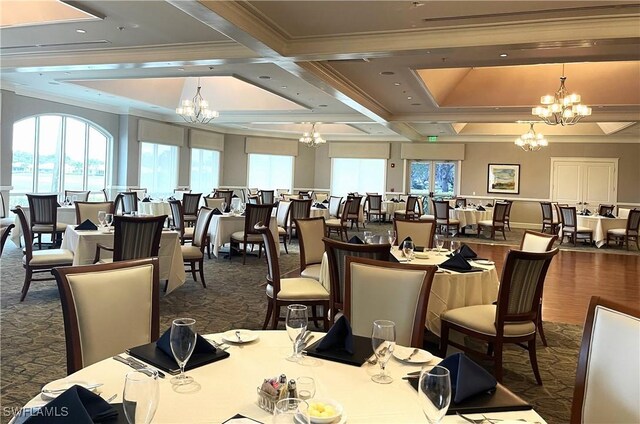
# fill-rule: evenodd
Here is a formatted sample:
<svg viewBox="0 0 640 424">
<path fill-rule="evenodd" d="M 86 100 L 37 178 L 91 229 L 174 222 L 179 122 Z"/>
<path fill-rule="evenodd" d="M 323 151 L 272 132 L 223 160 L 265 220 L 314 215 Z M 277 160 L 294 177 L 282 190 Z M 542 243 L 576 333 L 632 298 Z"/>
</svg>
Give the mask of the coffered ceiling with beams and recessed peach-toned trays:
<svg viewBox="0 0 640 424">
<path fill-rule="evenodd" d="M 48 23 L 44 3 L 64 5 L 0 3 L 39 19 L 0 29 L 3 89 L 180 122 L 200 77 L 217 131 L 512 141 L 565 64 L 593 114 L 536 129 L 640 142 L 640 1 L 74 1 L 90 19 Z"/>
</svg>

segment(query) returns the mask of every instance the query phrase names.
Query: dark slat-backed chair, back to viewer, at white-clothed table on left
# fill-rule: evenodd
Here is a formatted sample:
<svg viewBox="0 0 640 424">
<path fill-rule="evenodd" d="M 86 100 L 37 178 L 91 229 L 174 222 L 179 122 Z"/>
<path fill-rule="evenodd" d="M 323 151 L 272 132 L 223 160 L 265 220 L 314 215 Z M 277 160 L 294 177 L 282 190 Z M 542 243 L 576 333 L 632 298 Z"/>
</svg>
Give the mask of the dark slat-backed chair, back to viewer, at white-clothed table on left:
<svg viewBox="0 0 640 424">
<path fill-rule="evenodd" d="M 94 263 L 108 263 L 158 256 L 162 227 L 167 215 L 114 216 L 113 247 L 96 245 Z M 100 252 L 113 252 L 113 258 L 100 259 Z"/>
</svg>

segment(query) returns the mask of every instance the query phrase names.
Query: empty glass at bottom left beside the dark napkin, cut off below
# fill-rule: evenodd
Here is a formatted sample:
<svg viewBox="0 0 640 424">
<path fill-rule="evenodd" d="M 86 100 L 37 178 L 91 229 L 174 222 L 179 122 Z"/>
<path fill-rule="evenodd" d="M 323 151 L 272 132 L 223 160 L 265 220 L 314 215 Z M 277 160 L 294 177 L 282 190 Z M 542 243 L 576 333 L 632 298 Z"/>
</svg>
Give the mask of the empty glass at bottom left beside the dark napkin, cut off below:
<svg viewBox="0 0 640 424">
<path fill-rule="evenodd" d="M 158 372 L 150 368 L 131 371 L 124 379 L 122 408 L 129 424 L 148 424 L 158 408 Z"/>
</svg>

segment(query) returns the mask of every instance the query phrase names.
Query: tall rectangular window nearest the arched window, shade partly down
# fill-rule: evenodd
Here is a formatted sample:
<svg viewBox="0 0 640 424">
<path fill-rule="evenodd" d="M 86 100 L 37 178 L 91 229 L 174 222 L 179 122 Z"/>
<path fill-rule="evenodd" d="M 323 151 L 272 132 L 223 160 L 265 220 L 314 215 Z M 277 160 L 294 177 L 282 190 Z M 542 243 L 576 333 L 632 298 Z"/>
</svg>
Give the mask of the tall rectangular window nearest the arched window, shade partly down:
<svg viewBox="0 0 640 424">
<path fill-rule="evenodd" d="M 178 184 L 178 146 L 140 143 L 140 187 L 154 198 L 173 195 Z"/>
</svg>

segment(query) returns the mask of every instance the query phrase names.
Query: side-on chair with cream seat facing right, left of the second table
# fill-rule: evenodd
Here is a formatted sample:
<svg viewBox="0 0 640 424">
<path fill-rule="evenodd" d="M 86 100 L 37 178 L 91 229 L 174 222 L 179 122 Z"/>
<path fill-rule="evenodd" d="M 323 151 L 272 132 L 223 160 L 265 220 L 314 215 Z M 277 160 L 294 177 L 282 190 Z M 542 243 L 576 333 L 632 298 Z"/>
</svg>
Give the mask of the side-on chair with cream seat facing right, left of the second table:
<svg viewBox="0 0 640 424">
<path fill-rule="evenodd" d="M 277 247 L 269 227 L 263 223 L 257 223 L 254 230 L 262 237 L 267 257 L 267 315 L 262 325 L 266 330 L 271 321 L 271 328 L 278 327 L 280 309 L 283 306 L 302 304 L 311 307 L 312 317 L 316 327 L 318 316 L 316 307 L 322 307 L 322 323 L 324 331 L 329 329 L 327 311 L 329 309 L 329 293 L 317 280 L 313 278 L 280 278 L 280 264 L 278 261 Z"/>
</svg>

